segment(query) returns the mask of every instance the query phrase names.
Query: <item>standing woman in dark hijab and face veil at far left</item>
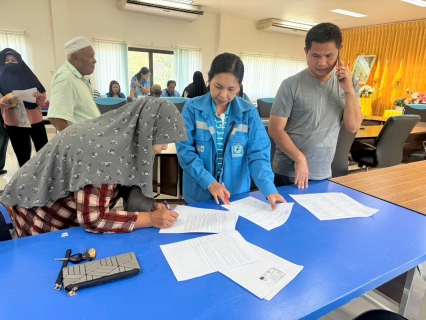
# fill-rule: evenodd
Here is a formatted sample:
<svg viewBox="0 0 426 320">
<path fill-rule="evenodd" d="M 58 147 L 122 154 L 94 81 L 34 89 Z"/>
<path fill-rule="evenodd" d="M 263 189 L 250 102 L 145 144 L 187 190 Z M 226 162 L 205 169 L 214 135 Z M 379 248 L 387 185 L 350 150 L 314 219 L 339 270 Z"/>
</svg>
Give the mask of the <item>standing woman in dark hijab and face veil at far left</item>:
<svg viewBox="0 0 426 320">
<path fill-rule="evenodd" d="M 46 128 L 40 106 L 46 101 L 46 90 L 36 75 L 22 60 L 21 55 L 13 49 L 6 48 L 0 52 L 0 99 L 1 113 L 6 124 L 13 150 L 18 158 L 19 166 L 23 166 L 31 157 L 30 137 L 39 151 L 47 143 Z M 34 93 L 35 103 L 24 101 L 25 111 L 30 120 L 31 128 L 19 126 L 13 106 L 17 98 L 7 98 L 13 90 L 37 88 Z"/>
</svg>

